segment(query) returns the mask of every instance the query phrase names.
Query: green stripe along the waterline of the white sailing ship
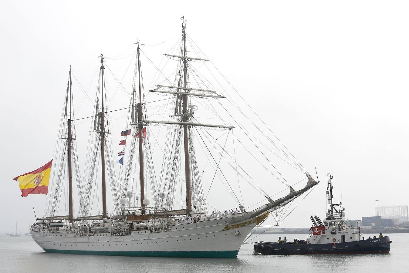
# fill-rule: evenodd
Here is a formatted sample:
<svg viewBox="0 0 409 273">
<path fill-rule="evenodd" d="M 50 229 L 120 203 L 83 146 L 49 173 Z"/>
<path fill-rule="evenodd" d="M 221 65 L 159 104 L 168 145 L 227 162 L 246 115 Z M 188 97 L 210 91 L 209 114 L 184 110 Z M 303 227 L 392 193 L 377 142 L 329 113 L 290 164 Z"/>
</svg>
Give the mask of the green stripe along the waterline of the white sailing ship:
<svg viewBox="0 0 409 273">
<path fill-rule="evenodd" d="M 49 253 L 108 255 L 108 256 L 141 256 L 141 257 L 187 257 L 187 258 L 236 258 L 238 251 L 92 251 L 46 249 Z"/>
</svg>

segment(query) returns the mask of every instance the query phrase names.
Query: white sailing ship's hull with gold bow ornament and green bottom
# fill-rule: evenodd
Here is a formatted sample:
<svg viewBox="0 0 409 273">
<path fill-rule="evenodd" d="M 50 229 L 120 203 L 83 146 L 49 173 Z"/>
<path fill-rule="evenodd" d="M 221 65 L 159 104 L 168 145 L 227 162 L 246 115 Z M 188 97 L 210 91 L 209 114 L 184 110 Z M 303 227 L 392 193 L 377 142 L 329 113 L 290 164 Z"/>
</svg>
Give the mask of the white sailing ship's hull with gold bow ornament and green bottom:
<svg viewBox="0 0 409 273">
<path fill-rule="evenodd" d="M 261 222 L 260 218 L 235 222 L 230 226 L 231 217 L 221 218 L 175 225 L 164 232 L 139 230 L 123 236 L 95 233 L 93 237 L 76 237 L 75 233 L 35 230 L 31 230 L 31 236 L 44 251 L 50 253 L 234 258 L 249 232 Z"/>
</svg>

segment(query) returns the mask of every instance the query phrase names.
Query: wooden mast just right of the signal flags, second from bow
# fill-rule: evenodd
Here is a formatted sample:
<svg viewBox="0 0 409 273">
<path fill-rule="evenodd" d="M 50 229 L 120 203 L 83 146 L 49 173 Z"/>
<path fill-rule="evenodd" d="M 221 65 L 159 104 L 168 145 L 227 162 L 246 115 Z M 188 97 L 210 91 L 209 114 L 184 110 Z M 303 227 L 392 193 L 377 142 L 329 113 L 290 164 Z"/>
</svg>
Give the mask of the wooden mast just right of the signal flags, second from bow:
<svg viewBox="0 0 409 273">
<path fill-rule="evenodd" d="M 141 187 L 141 207 L 142 214 L 146 214 L 144 206 L 145 199 L 145 180 L 144 180 L 144 150 L 142 145 L 143 133 L 142 133 L 142 91 L 141 91 L 141 58 L 139 55 L 139 41 L 137 42 L 137 58 L 138 58 L 138 83 L 139 83 L 139 103 L 138 103 L 138 132 L 139 132 L 139 181 Z"/>
</svg>

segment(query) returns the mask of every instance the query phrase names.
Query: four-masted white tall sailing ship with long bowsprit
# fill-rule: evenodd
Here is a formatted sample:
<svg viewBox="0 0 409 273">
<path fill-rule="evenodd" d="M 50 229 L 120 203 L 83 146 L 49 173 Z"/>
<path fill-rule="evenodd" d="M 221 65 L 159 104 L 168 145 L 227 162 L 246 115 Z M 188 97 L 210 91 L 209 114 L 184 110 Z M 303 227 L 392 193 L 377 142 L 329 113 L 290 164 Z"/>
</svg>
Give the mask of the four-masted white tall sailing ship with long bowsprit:
<svg viewBox="0 0 409 273">
<path fill-rule="evenodd" d="M 154 94 L 168 96 L 167 121 L 149 118 L 141 72 L 141 49 L 139 42 L 136 44 L 136 65 L 127 121 L 131 129 L 121 133 L 124 137 L 128 135 L 130 137 L 121 141 L 124 150 L 119 152 L 119 155 L 123 156 L 119 160 L 121 164 L 119 175 L 115 175 L 113 166 L 115 161 L 112 158 L 109 139 L 110 111 L 107 110 L 105 83 L 106 63 L 101 54 L 98 92 L 85 163 L 86 173 L 81 179 L 75 146 L 70 67 L 60 125 L 60 142 L 56 148 L 56 153 L 61 156 L 54 157 L 49 207 L 45 216 L 38 218 L 38 222 L 31 226 L 31 236 L 44 251 L 96 255 L 236 257 L 240 246 L 256 225 L 263 222 L 270 213 L 282 209 L 317 184 L 306 171 L 303 171 L 308 181 L 300 190 L 296 191 L 288 185 L 290 190 L 288 195 L 276 200 L 265 196 L 266 204 L 251 211 L 246 211 L 240 205 L 240 211 L 208 213 L 207 195 L 203 193 L 202 176 L 198 169 L 193 139 L 203 130 L 217 129 L 230 132 L 235 128 L 230 125 L 200 123 L 195 119 L 196 106 L 192 105 L 193 97 L 216 100 L 225 96 L 208 88 L 209 85 L 193 84 L 197 70 L 191 67 L 190 62 L 205 62 L 206 59 L 188 56 L 187 37 L 189 36 L 186 34 L 186 21 L 182 18 L 182 39 L 178 54 L 164 54 L 167 58 L 178 61 L 173 83 L 171 81 L 161 83 L 148 93 L 151 96 Z M 155 172 L 152 159 L 152 140 L 147 134 L 147 129 L 155 124 L 167 130 L 159 175 Z M 206 148 L 211 154 L 213 149 L 207 146 Z M 220 159 L 222 157 L 223 154 L 220 154 Z M 216 166 L 215 176 L 216 172 L 220 174 L 218 164 L 220 160 L 213 156 L 209 158 Z M 298 161 L 292 162 L 297 164 Z M 235 168 L 239 172 L 237 163 Z M 134 176 L 134 172 L 139 175 Z M 181 172 L 184 172 L 184 175 L 181 175 Z M 58 215 L 66 176 L 68 215 Z M 139 179 L 139 191 L 135 191 L 136 183 L 133 183 L 133 177 Z M 76 178 L 80 203 L 76 216 L 73 178 Z M 228 180 L 223 174 L 221 179 Z M 108 183 L 114 199 L 111 213 L 108 213 L 107 209 Z M 181 188 L 178 188 L 178 183 L 185 188 L 185 191 L 181 192 L 181 196 L 184 197 L 182 206 L 176 202 L 177 190 Z M 97 198 L 101 198 L 102 209 L 100 214 L 93 215 L 91 212 L 95 208 L 92 207 L 92 199 L 96 195 L 95 192 L 99 191 L 102 196 Z M 238 199 L 237 201 L 239 204 Z"/>
</svg>

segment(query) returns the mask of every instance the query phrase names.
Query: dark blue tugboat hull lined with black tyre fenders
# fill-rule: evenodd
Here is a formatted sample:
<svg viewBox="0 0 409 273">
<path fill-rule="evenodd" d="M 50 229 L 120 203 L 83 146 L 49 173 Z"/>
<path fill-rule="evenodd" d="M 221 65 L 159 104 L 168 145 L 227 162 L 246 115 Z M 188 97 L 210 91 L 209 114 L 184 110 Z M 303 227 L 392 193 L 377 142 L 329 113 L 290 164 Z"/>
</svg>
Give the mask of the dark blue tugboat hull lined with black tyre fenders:
<svg viewBox="0 0 409 273">
<path fill-rule="evenodd" d="M 391 250 L 391 242 L 389 236 L 335 244 L 281 244 L 258 242 L 254 245 L 254 253 L 262 255 L 389 253 Z"/>
</svg>

